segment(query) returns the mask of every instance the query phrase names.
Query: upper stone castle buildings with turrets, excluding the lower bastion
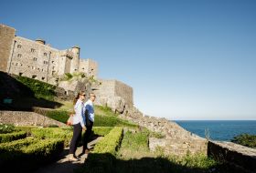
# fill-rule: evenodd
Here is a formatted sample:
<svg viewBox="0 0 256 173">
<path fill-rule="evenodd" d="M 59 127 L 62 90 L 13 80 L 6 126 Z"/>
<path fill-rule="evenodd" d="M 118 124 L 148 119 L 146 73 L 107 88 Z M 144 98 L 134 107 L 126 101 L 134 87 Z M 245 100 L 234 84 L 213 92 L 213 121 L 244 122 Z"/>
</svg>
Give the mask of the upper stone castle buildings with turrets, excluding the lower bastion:
<svg viewBox="0 0 256 173">
<path fill-rule="evenodd" d="M 95 77 L 98 73 L 95 61 L 80 58 L 79 46 L 59 50 L 42 39 L 16 36 L 16 29 L 7 25 L 0 25 L 0 57 L 1 71 L 53 85 L 66 73 L 82 72 Z"/>
</svg>

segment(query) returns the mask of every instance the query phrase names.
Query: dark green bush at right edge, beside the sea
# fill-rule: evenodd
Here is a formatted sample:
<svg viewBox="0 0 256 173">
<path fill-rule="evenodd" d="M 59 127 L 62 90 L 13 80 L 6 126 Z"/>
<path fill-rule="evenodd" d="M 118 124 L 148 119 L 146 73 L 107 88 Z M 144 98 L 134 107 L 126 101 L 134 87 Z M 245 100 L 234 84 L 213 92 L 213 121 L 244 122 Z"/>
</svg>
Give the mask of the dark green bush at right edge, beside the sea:
<svg viewBox="0 0 256 173">
<path fill-rule="evenodd" d="M 256 148 L 256 135 L 241 134 L 231 139 L 231 142 L 234 142 L 249 148 Z"/>
</svg>

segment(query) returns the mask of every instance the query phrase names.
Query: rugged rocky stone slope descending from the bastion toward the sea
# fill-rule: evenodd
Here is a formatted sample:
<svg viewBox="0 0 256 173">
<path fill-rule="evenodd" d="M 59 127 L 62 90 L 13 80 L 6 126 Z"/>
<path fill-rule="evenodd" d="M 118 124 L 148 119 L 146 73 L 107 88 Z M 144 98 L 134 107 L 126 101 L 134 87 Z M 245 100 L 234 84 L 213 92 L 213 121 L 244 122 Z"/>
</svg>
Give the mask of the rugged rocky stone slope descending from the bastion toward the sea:
<svg viewBox="0 0 256 173">
<path fill-rule="evenodd" d="M 207 153 L 207 139 L 188 132 L 173 121 L 165 118 L 144 116 L 135 107 L 125 107 L 120 117 L 165 135 L 164 139 L 150 139 L 149 146 L 152 150 L 155 150 L 158 146 L 164 149 L 165 154 L 177 156 L 183 156 L 187 153 Z"/>
</svg>

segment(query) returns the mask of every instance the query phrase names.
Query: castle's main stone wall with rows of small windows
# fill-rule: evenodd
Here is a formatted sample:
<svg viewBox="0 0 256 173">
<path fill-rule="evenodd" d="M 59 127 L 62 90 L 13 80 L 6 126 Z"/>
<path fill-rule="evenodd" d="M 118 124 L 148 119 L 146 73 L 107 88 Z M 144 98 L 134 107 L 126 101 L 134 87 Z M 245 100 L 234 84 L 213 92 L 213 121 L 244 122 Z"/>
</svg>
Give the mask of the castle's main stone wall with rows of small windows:
<svg viewBox="0 0 256 173">
<path fill-rule="evenodd" d="M 59 51 L 20 36 L 15 42 L 9 73 L 48 82 L 57 69 Z"/>
</svg>

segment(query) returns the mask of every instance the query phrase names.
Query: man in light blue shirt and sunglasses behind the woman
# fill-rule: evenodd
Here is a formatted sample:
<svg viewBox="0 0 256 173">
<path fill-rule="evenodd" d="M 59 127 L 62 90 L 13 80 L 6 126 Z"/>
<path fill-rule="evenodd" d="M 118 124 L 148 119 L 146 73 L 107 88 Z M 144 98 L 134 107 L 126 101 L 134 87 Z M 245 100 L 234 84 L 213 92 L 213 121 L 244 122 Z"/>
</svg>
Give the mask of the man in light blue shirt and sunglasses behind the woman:
<svg viewBox="0 0 256 173">
<path fill-rule="evenodd" d="M 93 102 L 95 101 L 96 96 L 94 93 L 90 94 L 90 97 L 88 101 L 84 104 L 84 112 L 85 112 L 85 122 L 86 122 L 86 131 L 83 137 L 83 148 L 82 148 L 82 154 L 88 154 L 89 148 L 88 148 L 88 142 L 89 137 L 91 136 L 91 129 L 94 123 L 94 107 Z"/>
</svg>

